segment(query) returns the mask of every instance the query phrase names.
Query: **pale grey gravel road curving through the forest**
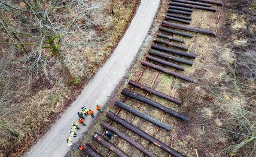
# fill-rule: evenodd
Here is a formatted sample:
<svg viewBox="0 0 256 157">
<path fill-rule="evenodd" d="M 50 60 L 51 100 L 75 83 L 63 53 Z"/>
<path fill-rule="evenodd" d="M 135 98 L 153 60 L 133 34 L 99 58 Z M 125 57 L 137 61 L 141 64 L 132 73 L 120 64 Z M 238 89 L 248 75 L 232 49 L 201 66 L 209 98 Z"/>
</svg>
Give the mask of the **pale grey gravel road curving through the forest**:
<svg viewBox="0 0 256 157">
<path fill-rule="evenodd" d="M 123 79 L 139 48 L 141 48 L 159 4 L 160 0 L 141 0 L 132 23 L 130 23 L 111 57 L 96 73 L 94 79 L 83 89 L 77 100 L 69 106 L 61 118 L 52 125 L 42 139 L 39 139 L 32 146 L 25 156 L 65 156 L 71 148 L 66 145 L 66 138 L 69 136 L 71 124 L 78 120 L 77 112 L 81 110 L 82 106 L 95 110 L 96 104 L 103 106 L 108 101 L 108 97 Z M 87 126 L 92 121 L 91 117 L 86 118 Z M 78 136 L 72 137 L 73 142 L 77 142 L 77 139 L 86 130 L 87 127 L 81 127 L 77 131 Z"/>
</svg>

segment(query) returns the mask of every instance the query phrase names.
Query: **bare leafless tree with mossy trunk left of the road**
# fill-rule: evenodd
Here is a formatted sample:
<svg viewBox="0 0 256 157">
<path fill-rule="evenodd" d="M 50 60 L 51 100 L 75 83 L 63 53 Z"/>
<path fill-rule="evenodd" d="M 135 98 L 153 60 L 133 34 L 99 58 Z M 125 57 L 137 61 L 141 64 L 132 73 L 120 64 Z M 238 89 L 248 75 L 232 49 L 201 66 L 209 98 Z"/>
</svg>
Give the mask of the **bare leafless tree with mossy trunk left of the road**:
<svg viewBox="0 0 256 157">
<path fill-rule="evenodd" d="M 86 34 L 87 27 L 106 23 L 106 20 L 94 21 L 89 17 L 90 12 L 100 5 L 102 2 L 90 5 L 83 0 L 0 1 L 0 26 L 10 38 L 10 42 L 0 43 L 19 45 L 23 54 L 28 55 L 24 66 L 29 65 L 29 70 L 36 73 L 42 66 L 47 77 L 46 69 L 52 58 L 56 58 L 67 79 L 74 82 L 62 51 L 67 46 L 87 46 L 83 40 L 74 43 L 69 37 L 77 33 Z M 67 13 L 72 15 L 68 17 Z M 79 20 L 81 22 L 77 22 Z M 53 82 L 49 77 L 48 80 Z"/>
</svg>

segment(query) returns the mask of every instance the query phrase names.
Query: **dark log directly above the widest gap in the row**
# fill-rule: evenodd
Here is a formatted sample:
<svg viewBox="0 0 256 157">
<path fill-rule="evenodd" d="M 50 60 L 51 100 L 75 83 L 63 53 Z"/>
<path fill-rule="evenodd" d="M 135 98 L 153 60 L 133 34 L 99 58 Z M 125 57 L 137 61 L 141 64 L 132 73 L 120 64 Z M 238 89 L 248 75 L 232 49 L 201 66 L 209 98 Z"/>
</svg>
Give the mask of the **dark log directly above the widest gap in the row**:
<svg viewBox="0 0 256 157">
<path fill-rule="evenodd" d="M 182 74 L 179 74 L 179 73 L 175 73 L 171 70 L 168 70 L 166 68 L 163 68 L 159 65 L 156 65 L 156 64 L 153 64 L 151 62 L 147 62 L 147 61 L 141 61 L 141 64 L 142 65 L 145 65 L 146 67 L 149 67 L 149 68 L 153 68 L 155 70 L 158 70 L 158 71 L 161 71 L 163 73 L 166 73 L 170 76 L 175 76 L 175 77 L 178 77 L 179 79 L 182 79 L 182 80 L 185 80 L 185 81 L 189 81 L 189 82 L 193 82 L 193 79 L 191 79 L 190 77 L 187 77 L 187 76 L 184 76 Z"/>
</svg>

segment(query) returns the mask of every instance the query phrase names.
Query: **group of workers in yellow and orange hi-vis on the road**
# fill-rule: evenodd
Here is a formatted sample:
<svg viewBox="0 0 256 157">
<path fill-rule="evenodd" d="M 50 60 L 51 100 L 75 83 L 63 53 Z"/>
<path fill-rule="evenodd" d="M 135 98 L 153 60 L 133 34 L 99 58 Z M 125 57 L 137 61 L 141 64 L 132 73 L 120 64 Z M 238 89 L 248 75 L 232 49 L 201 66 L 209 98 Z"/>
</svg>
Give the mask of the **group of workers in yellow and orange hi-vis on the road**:
<svg viewBox="0 0 256 157">
<path fill-rule="evenodd" d="M 83 108 L 81 108 L 82 110 L 81 110 L 81 112 L 78 112 L 77 113 L 77 115 L 78 115 L 78 124 L 81 124 L 81 125 L 84 125 L 84 126 L 86 126 L 86 124 L 84 124 L 84 115 L 87 117 L 87 115 L 91 115 L 92 116 L 92 118 L 94 118 L 95 117 L 95 115 L 94 115 L 94 111 L 93 111 L 93 109 L 88 109 L 88 108 L 86 108 L 86 106 L 83 106 Z M 98 111 L 98 112 L 102 112 L 102 109 L 101 109 L 101 106 L 100 105 L 96 105 L 96 111 Z M 66 143 L 68 144 L 68 146 L 72 146 L 73 145 L 73 143 L 72 143 L 72 138 L 71 138 L 71 136 L 72 137 L 77 137 L 77 134 L 75 133 L 75 130 L 78 130 L 78 129 L 80 129 L 79 127 L 78 127 L 78 124 L 77 123 L 73 123 L 72 124 L 72 128 L 69 130 L 69 134 L 70 134 L 70 136 L 68 137 L 68 139 L 66 139 Z"/>
</svg>

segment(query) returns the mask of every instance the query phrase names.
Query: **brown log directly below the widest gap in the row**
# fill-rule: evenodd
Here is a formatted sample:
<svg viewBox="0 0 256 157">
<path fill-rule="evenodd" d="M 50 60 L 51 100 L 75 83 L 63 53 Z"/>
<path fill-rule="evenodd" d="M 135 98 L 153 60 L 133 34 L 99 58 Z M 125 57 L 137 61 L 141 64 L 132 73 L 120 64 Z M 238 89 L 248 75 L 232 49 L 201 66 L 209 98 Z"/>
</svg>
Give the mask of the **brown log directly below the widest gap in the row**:
<svg viewBox="0 0 256 157">
<path fill-rule="evenodd" d="M 177 103 L 178 105 L 181 105 L 181 101 L 179 101 L 178 99 L 172 98 L 171 96 L 161 93 L 157 90 L 151 89 L 150 87 L 136 83 L 135 81 L 129 80 L 128 84 L 130 84 L 131 86 L 136 87 L 138 89 L 144 90 L 145 92 L 159 96 L 160 98 L 166 99 L 167 101 L 171 101 L 171 102 Z"/>
</svg>

